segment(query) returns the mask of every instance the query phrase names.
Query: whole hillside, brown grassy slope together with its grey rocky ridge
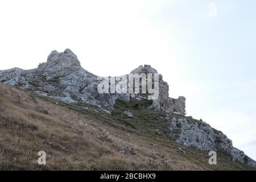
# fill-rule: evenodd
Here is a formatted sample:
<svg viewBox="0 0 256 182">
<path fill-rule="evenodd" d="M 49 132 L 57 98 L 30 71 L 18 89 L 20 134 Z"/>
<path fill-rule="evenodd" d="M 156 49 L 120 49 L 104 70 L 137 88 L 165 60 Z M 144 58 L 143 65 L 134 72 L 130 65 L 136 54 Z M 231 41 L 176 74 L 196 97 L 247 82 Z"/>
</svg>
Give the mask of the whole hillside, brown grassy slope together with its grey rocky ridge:
<svg viewBox="0 0 256 182">
<path fill-rule="evenodd" d="M 150 65 L 99 77 L 65 49 L 38 68 L 0 71 L 0 83 L 3 168 L 38 168 L 39 151 L 51 159 L 47 169 L 256 166 L 224 133 L 187 117 L 186 98 L 169 97 L 169 85 Z M 209 151 L 217 152 L 217 165 L 209 165 Z"/>
</svg>

